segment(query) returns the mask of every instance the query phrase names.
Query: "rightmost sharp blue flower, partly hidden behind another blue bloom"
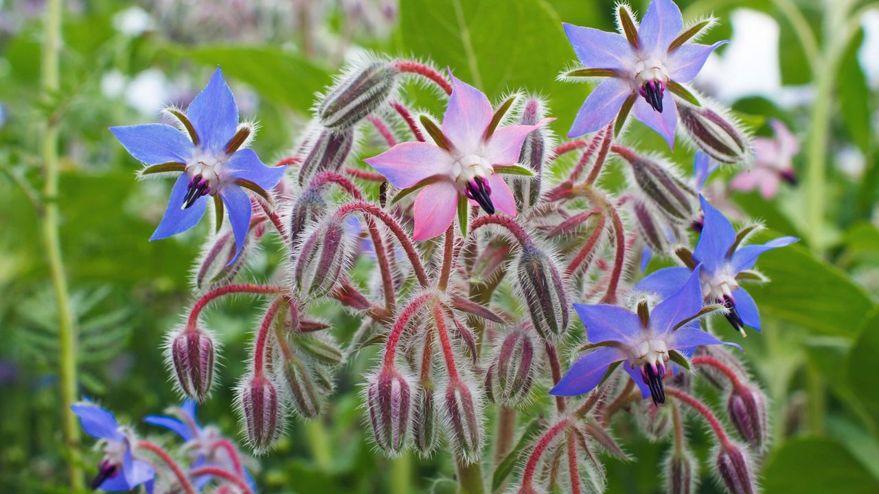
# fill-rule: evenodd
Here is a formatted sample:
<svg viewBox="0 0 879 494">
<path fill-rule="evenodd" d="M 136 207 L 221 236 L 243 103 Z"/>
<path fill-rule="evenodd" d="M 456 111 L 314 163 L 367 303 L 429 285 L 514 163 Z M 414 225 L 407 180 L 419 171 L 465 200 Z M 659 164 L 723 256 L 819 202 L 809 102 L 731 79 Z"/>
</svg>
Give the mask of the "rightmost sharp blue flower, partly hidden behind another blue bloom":
<svg viewBox="0 0 879 494">
<path fill-rule="evenodd" d="M 736 230 L 720 211 L 708 204 L 701 195 L 699 200 L 705 215 L 699 242 L 693 252 L 693 267 L 667 267 L 639 281 L 635 289 L 665 296 L 679 289 L 692 272 L 699 272 L 701 291 L 705 301 L 723 303 L 728 309 L 727 320 L 742 336 L 745 326 L 760 331 L 757 304 L 745 288 L 739 286 L 743 272 L 751 270 L 760 254 L 790 245 L 799 239 L 782 236 L 762 245 L 741 246 Z M 753 273 L 753 272 L 750 272 Z"/>
</svg>

